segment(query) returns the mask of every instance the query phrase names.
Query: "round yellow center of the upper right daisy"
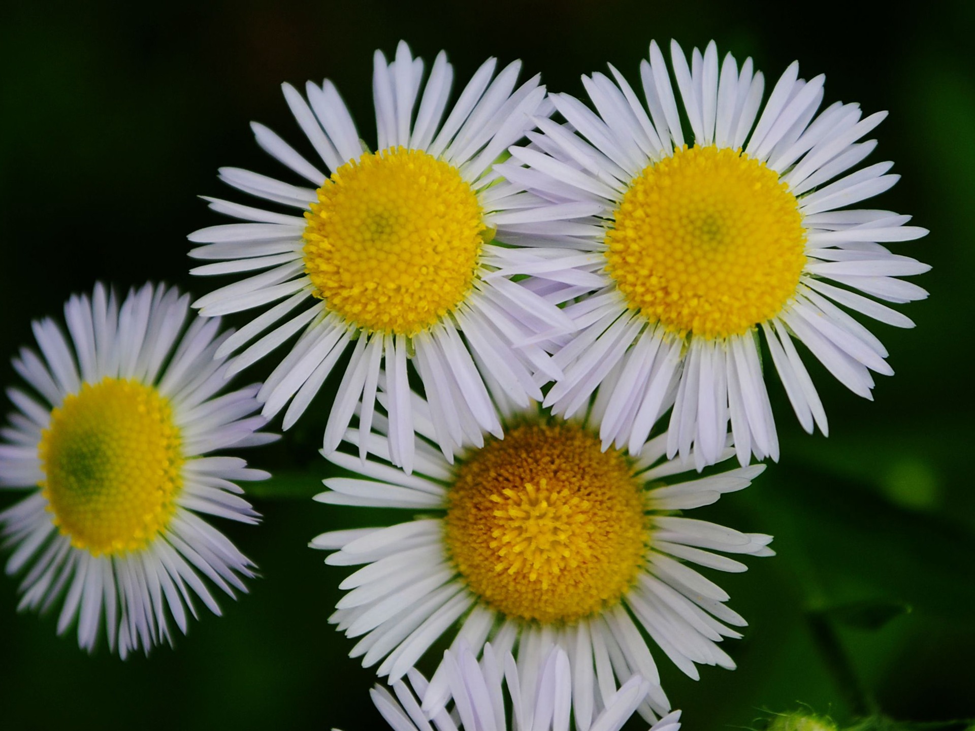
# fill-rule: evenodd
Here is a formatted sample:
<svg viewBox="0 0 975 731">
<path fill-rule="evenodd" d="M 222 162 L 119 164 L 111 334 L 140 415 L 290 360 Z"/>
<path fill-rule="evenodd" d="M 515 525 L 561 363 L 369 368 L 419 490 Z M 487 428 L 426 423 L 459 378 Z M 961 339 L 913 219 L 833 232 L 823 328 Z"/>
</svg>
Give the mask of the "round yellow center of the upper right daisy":
<svg viewBox="0 0 975 731">
<path fill-rule="evenodd" d="M 746 332 L 777 315 L 805 265 L 796 197 L 739 150 L 676 150 L 640 173 L 606 233 L 631 309 L 681 335 Z"/>
</svg>

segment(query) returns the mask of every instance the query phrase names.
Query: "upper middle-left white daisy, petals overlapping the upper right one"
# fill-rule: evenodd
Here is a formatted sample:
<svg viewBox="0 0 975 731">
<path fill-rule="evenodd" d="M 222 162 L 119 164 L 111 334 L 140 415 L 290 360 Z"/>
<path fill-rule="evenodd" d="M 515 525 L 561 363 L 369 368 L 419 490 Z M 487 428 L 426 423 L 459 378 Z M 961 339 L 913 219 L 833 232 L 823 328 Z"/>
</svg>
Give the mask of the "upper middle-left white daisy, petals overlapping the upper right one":
<svg viewBox="0 0 975 731">
<path fill-rule="evenodd" d="M 434 61 L 422 93 L 423 61 L 412 58 L 405 43 L 391 63 L 379 51 L 374 60 L 376 152 L 365 148 L 330 81 L 308 82 L 307 98 L 285 84 L 298 126 L 331 174 L 258 124 L 253 125 L 257 143 L 315 187 L 220 170 L 224 182 L 263 199 L 263 205 L 281 204 L 300 213 L 208 199 L 216 212 L 249 222 L 190 234 L 190 241 L 205 244 L 191 256 L 219 260 L 192 272 L 248 276 L 200 298 L 194 307 L 211 316 L 276 303 L 217 352 L 226 356 L 250 343 L 234 359 L 231 373 L 301 332 L 257 395 L 267 417 L 291 402 L 285 429 L 351 347 L 324 448 L 331 452 L 338 446 L 360 401 L 360 418 L 369 431 L 377 384 L 385 382 L 391 395 L 390 456 L 409 472 L 408 362 L 428 399 L 455 404 L 456 418 L 437 434 L 447 455 L 465 438 L 500 432 L 485 372 L 521 404 L 541 399 L 536 373 L 545 380 L 561 375 L 545 351 L 529 341 L 539 333 L 566 332 L 571 321 L 542 295 L 508 276 L 494 276 L 500 270 L 518 273 L 526 254 L 491 242 L 495 237 L 507 242 L 509 233 L 537 225 L 539 216 L 585 214 L 592 207 L 530 210 L 536 197 L 491 171 L 509 145 L 534 129 L 532 118 L 551 113 L 537 75 L 516 89 L 520 61 L 495 74 L 496 61 L 489 58 L 448 113 L 453 70 L 444 53 Z M 265 271 L 250 274 L 257 270 Z M 597 282 L 588 273 L 566 276 L 573 283 Z M 363 458 L 365 449 L 364 444 Z"/>
</svg>

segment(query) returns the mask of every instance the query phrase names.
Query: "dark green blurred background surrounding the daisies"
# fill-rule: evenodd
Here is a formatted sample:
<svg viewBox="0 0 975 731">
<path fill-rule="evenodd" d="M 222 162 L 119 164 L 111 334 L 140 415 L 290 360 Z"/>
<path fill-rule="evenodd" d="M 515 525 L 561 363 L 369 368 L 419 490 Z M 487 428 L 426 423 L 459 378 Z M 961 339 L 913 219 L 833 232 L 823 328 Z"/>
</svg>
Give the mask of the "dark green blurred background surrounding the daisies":
<svg viewBox="0 0 975 731">
<path fill-rule="evenodd" d="M 722 576 L 751 622 L 726 648 L 739 669 L 693 682 L 658 653 L 685 728 L 751 726 L 797 703 L 850 719 L 844 689 L 810 633 L 812 610 L 906 602 L 878 629 L 839 623 L 839 639 L 881 708 L 906 719 L 975 716 L 975 489 L 970 455 L 971 272 L 975 171 L 975 6 L 894 12 L 856 3 L 647 0 L 436 4 L 357 2 L 19 3 L 0 9 L 0 380 L 31 341 L 29 320 L 59 313 L 98 279 L 120 289 L 165 280 L 197 294 L 185 236 L 220 222 L 197 194 L 240 200 L 218 166 L 292 179 L 254 143 L 259 120 L 312 154 L 279 84 L 331 78 L 374 140 L 375 48 L 405 38 L 428 63 L 447 49 L 457 79 L 488 55 L 523 58 L 549 89 L 582 94 L 581 72 L 611 61 L 636 81 L 651 38 L 685 50 L 711 38 L 774 79 L 794 58 L 825 72 L 824 106 L 890 110 L 872 161 L 903 180 L 875 208 L 913 213 L 932 233 L 898 245 L 934 270 L 929 301 L 903 308 L 917 329 L 874 329 L 897 374 L 862 401 L 812 365 L 831 436 L 808 437 L 771 386 L 783 458 L 744 493 L 695 517 L 774 533 L 777 558 Z M 766 90 L 769 87 L 766 86 Z M 295 180 L 296 182 L 296 180 Z M 812 359 L 807 359 L 812 363 Z M 249 372 L 258 380 L 264 365 Z M 334 383 L 331 388 L 334 388 Z M 225 616 L 206 616 L 176 649 L 123 663 L 55 636 L 56 616 L 17 614 L 17 581 L 0 579 L 0 727 L 379 728 L 371 675 L 326 619 L 344 571 L 306 547 L 367 524 L 308 496 L 328 467 L 316 452 L 328 398 L 288 439 L 249 456 L 282 477 L 254 492 L 259 527 L 221 524 L 261 578 Z M 0 506 L 15 495 L 0 495 Z M 644 724 L 645 725 L 645 724 Z M 640 727 L 637 724 L 635 727 Z"/>
</svg>

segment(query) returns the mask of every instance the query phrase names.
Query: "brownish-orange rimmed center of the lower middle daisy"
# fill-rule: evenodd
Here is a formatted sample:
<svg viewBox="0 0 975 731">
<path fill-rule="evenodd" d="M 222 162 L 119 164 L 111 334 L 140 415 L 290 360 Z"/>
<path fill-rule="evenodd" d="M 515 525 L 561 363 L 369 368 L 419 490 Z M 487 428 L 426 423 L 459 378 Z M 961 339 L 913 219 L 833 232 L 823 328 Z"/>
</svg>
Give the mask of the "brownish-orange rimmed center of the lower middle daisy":
<svg viewBox="0 0 975 731">
<path fill-rule="evenodd" d="M 643 565 L 643 484 L 632 462 L 575 424 L 526 424 L 461 462 L 448 552 L 508 617 L 573 622 L 619 601 Z"/>
</svg>

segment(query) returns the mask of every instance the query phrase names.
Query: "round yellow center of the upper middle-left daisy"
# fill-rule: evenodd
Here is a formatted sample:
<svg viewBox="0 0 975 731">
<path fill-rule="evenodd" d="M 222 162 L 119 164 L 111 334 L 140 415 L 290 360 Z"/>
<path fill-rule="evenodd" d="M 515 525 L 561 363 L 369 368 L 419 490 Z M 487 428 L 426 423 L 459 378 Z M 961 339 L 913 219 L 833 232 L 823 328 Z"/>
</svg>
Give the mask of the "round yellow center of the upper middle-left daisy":
<svg viewBox="0 0 975 731">
<path fill-rule="evenodd" d="M 471 186 L 448 163 L 403 147 L 346 163 L 305 213 L 305 272 L 349 323 L 412 335 L 471 290 L 489 240 Z"/>
</svg>

